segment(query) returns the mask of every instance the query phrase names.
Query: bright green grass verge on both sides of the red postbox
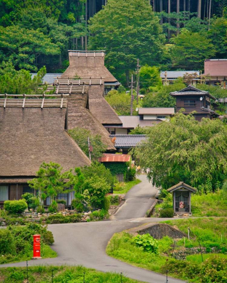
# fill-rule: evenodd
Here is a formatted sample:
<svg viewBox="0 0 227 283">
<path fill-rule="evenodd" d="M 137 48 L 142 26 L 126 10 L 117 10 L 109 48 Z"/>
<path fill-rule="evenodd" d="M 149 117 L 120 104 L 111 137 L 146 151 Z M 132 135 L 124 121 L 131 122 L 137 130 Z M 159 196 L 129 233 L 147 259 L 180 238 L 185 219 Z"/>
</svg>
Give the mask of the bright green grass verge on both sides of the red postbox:
<svg viewBox="0 0 227 283">
<path fill-rule="evenodd" d="M 57 256 L 58 256 L 57 252 L 53 251 L 50 246 L 46 244 L 43 244 L 41 246 L 41 257 L 43 259 L 54 258 Z M 19 254 L 18 256 L 12 256 L 8 254 L 5 256 L 0 256 L 0 264 L 9 263 L 9 262 L 21 262 L 25 260 L 30 260 L 32 257 L 33 257 L 33 250 L 31 248 L 31 249 L 25 250 L 25 253 L 22 255 Z"/>
</svg>

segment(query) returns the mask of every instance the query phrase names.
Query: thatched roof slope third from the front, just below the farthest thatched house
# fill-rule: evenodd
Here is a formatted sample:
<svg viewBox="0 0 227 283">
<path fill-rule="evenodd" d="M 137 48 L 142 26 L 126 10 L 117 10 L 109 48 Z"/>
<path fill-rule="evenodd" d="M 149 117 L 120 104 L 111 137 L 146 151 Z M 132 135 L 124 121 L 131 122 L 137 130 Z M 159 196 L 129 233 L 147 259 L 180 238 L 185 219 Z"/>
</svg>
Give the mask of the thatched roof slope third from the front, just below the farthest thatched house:
<svg viewBox="0 0 227 283">
<path fill-rule="evenodd" d="M 89 86 L 89 110 L 102 124 L 122 124 L 117 113 L 103 97 L 104 85 Z"/>
</svg>

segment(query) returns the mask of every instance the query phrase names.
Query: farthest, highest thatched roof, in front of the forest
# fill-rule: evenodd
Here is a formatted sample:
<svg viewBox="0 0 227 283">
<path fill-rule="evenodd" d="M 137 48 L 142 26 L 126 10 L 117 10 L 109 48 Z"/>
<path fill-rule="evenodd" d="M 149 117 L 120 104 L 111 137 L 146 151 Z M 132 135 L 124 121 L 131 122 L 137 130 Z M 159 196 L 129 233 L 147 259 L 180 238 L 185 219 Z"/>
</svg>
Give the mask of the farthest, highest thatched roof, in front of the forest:
<svg viewBox="0 0 227 283">
<path fill-rule="evenodd" d="M 69 52 L 69 66 L 62 77 L 102 77 L 105 82 L 117 82 L 117 79 L 114 78 L 104 65 L 104 53 L 103 56 L 97 56 L 99 54 L 98 52 L 94 54 L 96 56 L 86 57 L 86 51 L 80 51 L 79 56 L 78 53 Z"/>
</svg>

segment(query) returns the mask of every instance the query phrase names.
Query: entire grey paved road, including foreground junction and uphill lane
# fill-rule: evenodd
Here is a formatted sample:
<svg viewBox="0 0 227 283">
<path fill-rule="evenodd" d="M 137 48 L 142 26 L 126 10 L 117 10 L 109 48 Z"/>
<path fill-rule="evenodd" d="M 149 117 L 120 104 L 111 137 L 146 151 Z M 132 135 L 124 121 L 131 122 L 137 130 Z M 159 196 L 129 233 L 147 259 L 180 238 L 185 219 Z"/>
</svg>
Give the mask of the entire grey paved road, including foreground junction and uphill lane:
<svg viewBox="0 0 227 283">
<path fill-rule="evenodd" d="M 152 197 L 152 194 L 156 194 L 156 191 L 143 175 L 139 178 L 142 179 L 142 182 L 133 187 L 131 189 L 132 192 L 125 196 L 126 203 L 123 204 L 114 216 L 114 220 L 49 225 L 48 229 L 53 232 L 55 240 L 52 248 L 58 252 L 58 257 L 54 259 L 31 260 L 28 262 L 28 265 L 84 265 L 103 272 L 123 272 L 125 276 L 149 283 L 166 282 L 164 275 L 121 262 L 107 256 L 105 252 L 107 243 L 114 233 L 137 227 L 143 223 L 160 221 L 159 218 L 142 217 L 150 208 L 152 204 L 150 197 Z M 143 208 L 141 209 L 140 206 Z M 124 213 L 126 217 L 131 216 L 131 219 L 121 220 Z M 139 218 L 132 218 L 132 216 Z M 26 266 L 26 262 L 3 264 L 0 266 Z M 168 283 L 185 282 L 174 278 L 168 278 L 168 280 Z"/>
</svg>

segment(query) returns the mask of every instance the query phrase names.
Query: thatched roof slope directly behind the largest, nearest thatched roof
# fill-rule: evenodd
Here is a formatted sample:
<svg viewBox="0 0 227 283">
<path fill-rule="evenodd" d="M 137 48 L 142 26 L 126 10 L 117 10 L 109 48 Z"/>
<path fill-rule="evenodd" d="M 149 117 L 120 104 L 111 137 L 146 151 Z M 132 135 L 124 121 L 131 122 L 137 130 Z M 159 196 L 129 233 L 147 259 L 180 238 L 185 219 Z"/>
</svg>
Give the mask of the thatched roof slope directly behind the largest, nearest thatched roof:
<svg viewBox="0 0 227 283">
<path fill-rule="evenodd" d="M 108 150 L 115 150 L 108 131 L 96 117 L 85 108 L 87 105 L 87 98 L 87 93 L 72 94 L 68 97 L 68 129 L 81 127 L 90 130 L 92 134 L 101 136 L 101 140 L 108 146 Z"/>
</svg>

